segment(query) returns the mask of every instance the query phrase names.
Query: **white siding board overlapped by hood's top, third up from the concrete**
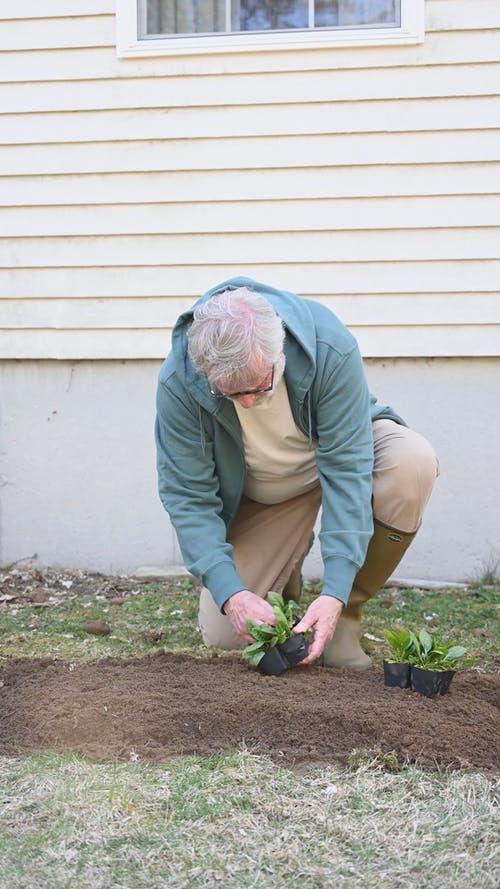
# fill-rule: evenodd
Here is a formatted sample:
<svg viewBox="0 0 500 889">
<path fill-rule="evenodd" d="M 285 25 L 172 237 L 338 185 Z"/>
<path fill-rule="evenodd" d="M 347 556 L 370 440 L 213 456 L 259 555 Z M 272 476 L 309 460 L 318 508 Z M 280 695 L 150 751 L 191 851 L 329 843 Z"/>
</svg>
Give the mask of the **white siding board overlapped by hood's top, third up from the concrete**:
<svg viewBox="0 0 500 889">
<path fill-rule="evenodd" d="M 384 294 L 408 294 L 416 303 L 428 294 L 463 293 L 474 305 L 478 293 L 493 293 L 498 300 L 500 259 L 423 260 L 421 262 L 321 262 L 314 268 L 294 258 L 286 264 L 224 262 L 210 267 L 188 261 L 186 265 L 108 265 L 100 267 L 52 265 L 46 268 L 0 269 L 0 288 L 6 300 L 80 299 L 88 297 L 127 297 L 136 300 L 140 316 L 142 298 L 167 296 L 190 302 L 231 275 L 248 274 L 257 281 L 295 290 L 304 296 L 325 300 L 331 294 L 372 296 L 382 302 Z M 122 263 L 125 257 L 122 257 Z M 314 271 L 314 274 L 311 274 Z M 369 281 L 369 288 L 367 287 Z M 184 297 L 182 297 L 184 298 Z M 498 300 L 500 302 L 500 300 Z M 0 302 L 0 307 L 5 305 Z M 453 315 L 450 311 L 450 321 Z M 166 322 L 167 323 L 167 322 Z"/>
</svg>

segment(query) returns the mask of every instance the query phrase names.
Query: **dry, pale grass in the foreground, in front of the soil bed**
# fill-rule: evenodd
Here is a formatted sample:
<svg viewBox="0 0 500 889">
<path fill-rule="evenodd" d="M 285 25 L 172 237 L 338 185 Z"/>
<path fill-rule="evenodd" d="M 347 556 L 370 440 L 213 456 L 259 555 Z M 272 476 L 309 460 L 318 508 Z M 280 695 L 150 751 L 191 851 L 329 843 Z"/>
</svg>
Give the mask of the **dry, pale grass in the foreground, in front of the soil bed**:
<svg viewBox="0 0 500 889">
<path fill-rule="evenodd" d="M 295 774 L 243 749 L 160 768 L 0 760 L 0 777 L 5 889 L 497 885 L 481 775 Z"/>
</svg>

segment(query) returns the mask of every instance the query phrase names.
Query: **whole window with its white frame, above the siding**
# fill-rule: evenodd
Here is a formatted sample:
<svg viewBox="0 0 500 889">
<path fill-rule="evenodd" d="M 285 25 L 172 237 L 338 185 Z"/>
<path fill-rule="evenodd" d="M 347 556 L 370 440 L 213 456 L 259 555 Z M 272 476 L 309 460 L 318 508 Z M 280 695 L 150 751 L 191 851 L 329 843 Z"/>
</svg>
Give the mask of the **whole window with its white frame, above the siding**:
<svg viewBox="0 0 500 889">
<path fill-rule="evenodd" d="M 120 0 L 118 53 L 417 43 L 424 0 Z"/>
</svg>

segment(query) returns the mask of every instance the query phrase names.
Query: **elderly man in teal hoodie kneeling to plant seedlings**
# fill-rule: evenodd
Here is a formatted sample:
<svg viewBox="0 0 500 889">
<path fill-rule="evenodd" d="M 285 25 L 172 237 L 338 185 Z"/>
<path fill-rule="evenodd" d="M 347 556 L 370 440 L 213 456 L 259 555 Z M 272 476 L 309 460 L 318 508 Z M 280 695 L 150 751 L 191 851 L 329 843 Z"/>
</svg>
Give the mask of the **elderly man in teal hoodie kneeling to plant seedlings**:
<svg viewBox="0 0 500 889">
<path fill-rule="evenodd" d="M 274 623 L 270 590 L 298 599 L 321 507 L 323 588 L 296 632 L 308 657 L 363 668 L 361 607 L 413 540 L 433 449 L 370 396 L 356 341 L 320 303 L 249 278 L 178 319 L 159 379 L 160 497 L 204 587 L 207 645 L 242 648 Z"/>
</svg>

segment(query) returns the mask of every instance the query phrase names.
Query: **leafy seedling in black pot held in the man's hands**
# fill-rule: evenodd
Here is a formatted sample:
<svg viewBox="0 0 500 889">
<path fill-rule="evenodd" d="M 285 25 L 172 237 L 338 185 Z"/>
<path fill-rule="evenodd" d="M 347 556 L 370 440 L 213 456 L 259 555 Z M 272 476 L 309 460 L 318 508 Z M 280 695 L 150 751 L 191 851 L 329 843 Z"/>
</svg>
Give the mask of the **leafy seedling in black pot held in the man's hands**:
<svg viewBox="0 0 500 889">
<path fill-rule="evenodd" d="M 296 603 L 285 604 L 283 596 L 272 590 L 267 598 L 276 615 L 276 626 L 247 621 L 248 633 L 255 641 L 247 645 L 242 654 L 261 673 L 279 676 L 306 657 L 308 645 L 303 633 L 292 633 L 297 622 L 294 617 Z"/>
</svg>

